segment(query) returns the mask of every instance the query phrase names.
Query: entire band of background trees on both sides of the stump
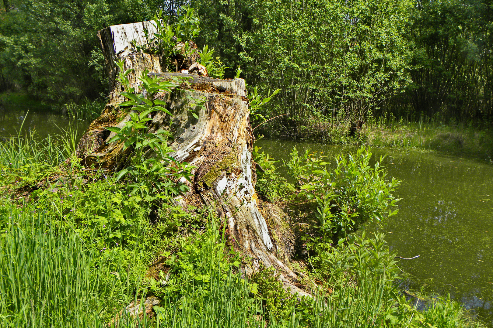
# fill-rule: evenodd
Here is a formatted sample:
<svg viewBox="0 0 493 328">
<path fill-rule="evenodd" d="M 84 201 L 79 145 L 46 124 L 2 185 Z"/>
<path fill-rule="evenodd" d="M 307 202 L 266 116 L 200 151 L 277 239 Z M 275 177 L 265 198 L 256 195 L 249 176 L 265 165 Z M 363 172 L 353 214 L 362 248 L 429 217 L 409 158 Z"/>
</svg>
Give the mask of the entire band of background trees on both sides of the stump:
<svg viewBox="0 0 493 328">
<path fill-rule="evenodd" d="M 0 90 L 27 89 L 62 104 L 104 96 L 96 31 L 152 19 L 158 9 L 163 22 L 176 21 L 181 4 L 3 0 Z M 241 76 L 262 92 L 282 90 L 259 114 L 285 115 L 275 122 L 286 134 L 299 134 L 313 117 L 334 126 L 372 116 L 455 122 L 493 113 L 488 0 L 190 4 L 200 19 L 199 49 L 210 45 L 203 57 L 214 48 L 226 76 L 241 66 Z"/>
</svg>

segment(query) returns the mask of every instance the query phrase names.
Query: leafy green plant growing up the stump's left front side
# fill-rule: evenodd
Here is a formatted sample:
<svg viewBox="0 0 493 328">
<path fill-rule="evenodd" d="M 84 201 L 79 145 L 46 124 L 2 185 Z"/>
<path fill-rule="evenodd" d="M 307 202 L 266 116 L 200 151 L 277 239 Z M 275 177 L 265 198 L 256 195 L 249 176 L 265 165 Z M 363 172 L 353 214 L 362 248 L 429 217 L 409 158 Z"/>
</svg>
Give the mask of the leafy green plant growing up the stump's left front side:
<svg viewBox="0 0 493 328">
<path fill-rule="evenodd" d="M 173 92 L 170 88 L 176 88 L 177 84 L 159 80 L 156 77 L 148 77 L 147 71 L 142 72 L 139 80 L 142 82 L 142 89 L 136 92 L 131 88 L 128 75 L 132 69 L 124 70 L 123 61 L 116 62 L 120 68 L 118 81 L 125 88 L 122 95 L 129 100 L 120 106 L 133 106 L 130 111 L 131 120 L 125 122 L 125 126 L 116 126 L 106 129 L 115 132 L 116 135 L 109 140 L 109 143 L 120 141 L 123 148 L 133 148 L 131 165 L 121 170 L 116 179 L 120 180 L 125 176 L 130 176 L 131 193 L 139 192 L 142 199 L 152 201 L 156 198 L 167 198 L 170 195 L 178 195 L 188 191 L 188 187 L 181 178 L 190 181 L 191 170 L 194 168 L 188 163 L 180 163 L 169 154 L 174 150 L 168 146 L 171 135 L 168 131 L 160 129 L 154 133 L 146 133 L 148 126 L 146 122 L 152 120 L 149 116 L 152 112 L 163 111 L 172 115 L 162 105 L 166 102 L 154 99 L 154 94 L 158 91 Z"/>
</svg>

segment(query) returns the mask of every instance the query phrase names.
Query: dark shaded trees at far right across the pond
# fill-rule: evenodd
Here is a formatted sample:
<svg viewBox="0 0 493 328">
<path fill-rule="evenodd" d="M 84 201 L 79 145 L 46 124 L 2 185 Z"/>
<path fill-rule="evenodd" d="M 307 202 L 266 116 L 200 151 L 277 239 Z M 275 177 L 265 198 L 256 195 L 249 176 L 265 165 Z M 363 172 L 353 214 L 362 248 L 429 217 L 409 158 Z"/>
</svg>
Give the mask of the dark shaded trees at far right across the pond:
<svg viewBox="0 0 493 328">
<path fill-rule="evenodd" d="M 492 114 L 492 3 L 420 1 L 411 13 L 407 95 L 414 112 L 443 119 Z"/>
</svg>

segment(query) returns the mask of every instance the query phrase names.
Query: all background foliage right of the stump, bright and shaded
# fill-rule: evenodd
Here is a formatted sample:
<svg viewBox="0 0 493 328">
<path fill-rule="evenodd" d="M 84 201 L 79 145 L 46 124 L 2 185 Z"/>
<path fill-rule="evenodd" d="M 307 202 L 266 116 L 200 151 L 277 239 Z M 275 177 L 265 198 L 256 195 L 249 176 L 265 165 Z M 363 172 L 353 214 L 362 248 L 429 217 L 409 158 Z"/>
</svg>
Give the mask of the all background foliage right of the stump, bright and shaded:
<svg viewBox="0 0 493 328">
<path fill-rule="evenodd" d="M 204 41 L 249 83 L 281 88 L 270 114 L 287 114 L 295 127 L 320 115 L 493 113 L 490 1 L 191 2 Z"/>
</svg>

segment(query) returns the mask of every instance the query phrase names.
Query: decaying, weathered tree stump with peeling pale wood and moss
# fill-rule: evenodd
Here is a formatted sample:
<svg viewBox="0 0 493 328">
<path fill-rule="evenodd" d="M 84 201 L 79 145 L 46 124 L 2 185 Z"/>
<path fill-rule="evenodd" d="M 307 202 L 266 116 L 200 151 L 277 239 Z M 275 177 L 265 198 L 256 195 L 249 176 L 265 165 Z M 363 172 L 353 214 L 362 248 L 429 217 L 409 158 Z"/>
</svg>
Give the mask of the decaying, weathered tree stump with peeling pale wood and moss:
<svg viewBox="0 0 493 328">
<path fill-rule="evenodd" d="M 131 86 L 145 69 L 165 80 L 173 76 L 187 78 L 180 90 L 159 92 L 155 99 L 166 101 L 173 114 L 154 112 L 149 132 L 165 129 L 172 133 L 171 155 L 180 162 L 197 167 L 189 183 L 190 191 L 176 199 L 183 205 L 206 205 L 216 208 L 218 216 L 227 222 L 230 244 L 251 257 L 252 265 L 243 269 L 247 274 L 260 264 L 274 266 L 282 274 L 284 286 L 291 292 L 308 295 L 290 280 L 296 274 L 289 268 L 294 255 L 294 234 L 285 222 L 281 209 L 260 204 L 252 179 L 255 164 L 251 157 L 253 135 L 248 120 L 249 108 L 245 80 L 218 80 L 191 74 L 163 72 L 165 64 L 159 55 L 138 53 L 130 40 L 143 42 L 143 31 L 153 32 L 150 22 L 116 25 L 98 32 L 112 85 L 109 100 L 101 116 L 94 120 L 80 140 L 77 155 L 81 164 L 91 168 L 117 171 L 125 167 L 131 148 L 123 150 L 117 141 L 108 144 L 114 132 L 105 127 L 123 126 L 130 115 L 118 104 L 124 101 L 122 86 L 116 81 L 118 67 L 114 60 L 124 60 L 124 68 L 133 68 Z M 192 64 L 194 59 L 189 60 Z M 196 99 L 205 97 L 205 107 L 196 119 L 189 112 L 187 94 Z M 188 182 L 187 182 L 188 183 Z M 266 220 L 267 218 L 267 220 Z"/>
</svg>

